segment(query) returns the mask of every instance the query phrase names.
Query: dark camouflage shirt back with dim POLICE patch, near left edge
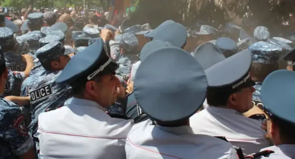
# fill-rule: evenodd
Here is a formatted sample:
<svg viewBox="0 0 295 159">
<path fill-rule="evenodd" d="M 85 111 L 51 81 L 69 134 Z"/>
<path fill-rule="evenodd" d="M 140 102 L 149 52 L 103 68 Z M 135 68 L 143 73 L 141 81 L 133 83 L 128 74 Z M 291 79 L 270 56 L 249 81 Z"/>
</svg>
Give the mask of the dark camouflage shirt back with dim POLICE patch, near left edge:
<svg viewBox="0 0 295 159">
<path fill-rule="evenodd" d="M 19 72 L 23 72 L 26 69 L 27 63 L 23 60 L 21 54 L 17 52 L 5 52 L 4 58 L 8 69 Z"/>
</svg>

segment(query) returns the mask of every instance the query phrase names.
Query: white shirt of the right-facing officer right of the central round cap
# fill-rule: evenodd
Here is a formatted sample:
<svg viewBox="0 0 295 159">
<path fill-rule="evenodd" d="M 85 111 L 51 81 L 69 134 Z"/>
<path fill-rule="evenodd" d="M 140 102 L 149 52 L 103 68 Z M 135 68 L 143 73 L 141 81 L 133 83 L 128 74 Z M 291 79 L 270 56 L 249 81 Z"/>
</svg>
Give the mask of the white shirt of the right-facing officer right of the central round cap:
<svg viewBox="0 0 295 159">
<path fill-rule="evenodd" d="M 191 116 L 190 126 L 196 134 L 225 137 L 235 148 L 241 147 L 244 155 L 271 146 L 264 137 L 266 131 L 261 128 L 261 121 L 233 109 L 209 106 Z"/>
</svg>

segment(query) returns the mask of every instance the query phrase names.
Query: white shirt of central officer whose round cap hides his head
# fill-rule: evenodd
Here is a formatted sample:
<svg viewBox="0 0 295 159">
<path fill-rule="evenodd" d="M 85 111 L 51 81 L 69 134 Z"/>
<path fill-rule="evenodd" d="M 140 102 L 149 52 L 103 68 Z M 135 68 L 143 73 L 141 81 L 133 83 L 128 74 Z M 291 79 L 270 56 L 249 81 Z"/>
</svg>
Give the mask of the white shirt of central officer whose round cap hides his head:
<svg viewBox="0 0 295 159">
<path fill-rule="evenodd" d="M 127 135 L 126 158 L 235 158 L 229 142 L 208 135 L 194 134 L 189 126 L 162 127 L 151 120 L 133 126 Z"/>
</svg>

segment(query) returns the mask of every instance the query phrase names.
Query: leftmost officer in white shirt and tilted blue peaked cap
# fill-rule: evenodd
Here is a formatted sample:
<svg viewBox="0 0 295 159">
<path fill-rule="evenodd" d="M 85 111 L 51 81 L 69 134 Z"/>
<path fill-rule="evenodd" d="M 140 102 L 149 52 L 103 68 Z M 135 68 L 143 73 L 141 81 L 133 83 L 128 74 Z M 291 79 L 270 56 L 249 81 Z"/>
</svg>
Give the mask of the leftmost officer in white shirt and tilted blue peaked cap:
<svg viewBox="0 0 295 159">
<path fill-rule="evenodd" d="M 125 139 L 132 120 L 112 118 L 105 112 L 117 100 L 117 68 L 101 38 L 73 56 L 55 80 L 71 85 L 71 103 L 39 115 L 42 157 L 125 158 Z"/>
</svg>

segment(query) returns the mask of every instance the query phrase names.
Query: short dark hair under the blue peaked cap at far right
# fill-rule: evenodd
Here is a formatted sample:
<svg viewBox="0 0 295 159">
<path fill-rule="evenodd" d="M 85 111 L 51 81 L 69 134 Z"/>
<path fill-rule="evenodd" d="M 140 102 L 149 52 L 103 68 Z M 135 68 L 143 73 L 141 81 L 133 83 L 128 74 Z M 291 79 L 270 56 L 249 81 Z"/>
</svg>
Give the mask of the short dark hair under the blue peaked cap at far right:
<svg viewBox="0 0 295 159">
<path fill-rule="evenodd" d="M 276 116 L 270 116 L 270 119 L 278 126 L 283 144 L 295 144 L 295 125 Z"/>
</svg>

